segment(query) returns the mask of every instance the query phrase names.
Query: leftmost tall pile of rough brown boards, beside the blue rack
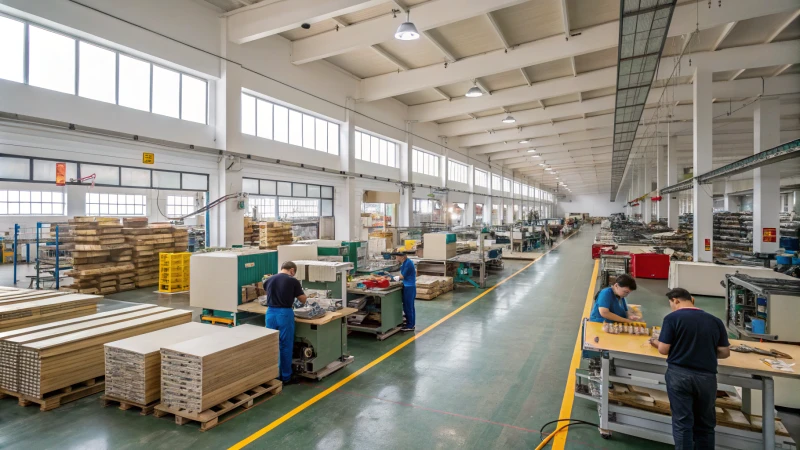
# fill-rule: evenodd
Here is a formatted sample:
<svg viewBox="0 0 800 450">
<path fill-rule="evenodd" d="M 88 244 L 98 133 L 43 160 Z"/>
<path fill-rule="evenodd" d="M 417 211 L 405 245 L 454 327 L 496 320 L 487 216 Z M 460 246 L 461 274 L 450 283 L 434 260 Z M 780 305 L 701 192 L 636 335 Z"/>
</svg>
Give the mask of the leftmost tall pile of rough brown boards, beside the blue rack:
<svg viewBox="0 0 800 450">
<path fill-rule="evenodd" d="M 71 285 L 63 290 L 81 294 L 111 294 L 132 289 L 133 264 L 130 246 L 122 235 L 122 224 L 113 217 L 70 219 L 75 238 L 72 251 Z"/>
</svg>

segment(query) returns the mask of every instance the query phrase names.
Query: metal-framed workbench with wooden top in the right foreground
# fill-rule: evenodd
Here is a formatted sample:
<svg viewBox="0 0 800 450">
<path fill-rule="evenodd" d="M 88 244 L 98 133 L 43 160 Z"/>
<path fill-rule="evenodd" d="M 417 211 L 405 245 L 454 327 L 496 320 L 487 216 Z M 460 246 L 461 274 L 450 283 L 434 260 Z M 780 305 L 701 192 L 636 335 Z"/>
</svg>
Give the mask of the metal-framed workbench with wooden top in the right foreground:
<svg viewBox="0 0 800 450">
<path fill-rule="evenodd" d="M 667 357 L 658 353 L 648 342 L 649 336 L 630 334 L 609 334 L 603 332 L 602 323 L 584 322 L 583 349 L 601 353 L 601 397 L 575 392 L 575 397 L 598 403 L 600 434 L 611 437 L 612 431 L 638 436 L 652 441 L 674 444 L 672 439 L 672 418 L 666 414 L 644 409 L 620 406 L 609 402 L 610 383 L 624 383 L 658 391 L 666 391 L 664 374 L 667 370 Z M 731 345 L 753 344 L 752 342 L 731 339 Z M 776 349 L 792 355 L 793 361 L 800 361 L 800 347 L 785 344 L 759 344 L 759 347 Z M 760 390 L 763 401 L 762 432 L 733 428 L 718 424 L 716 427 L 717 446 L 734 449 L 796 449 L 794 441 L 788 436 L 775 434 L 774 377 L 800 379 L 800 373 L 782 372 L 764 364 L 754 353 L 731 352 L 727 359 L 719 360 L 717 382 L 718 390 L 735 392 L 735 386 L 742 388 L 742 407 L 747 408 L 753 390 Z M 795 368 L 797 370 L 797 368 Z M 576 372 L 579 378 L 589 375 Z"/>
</svg>

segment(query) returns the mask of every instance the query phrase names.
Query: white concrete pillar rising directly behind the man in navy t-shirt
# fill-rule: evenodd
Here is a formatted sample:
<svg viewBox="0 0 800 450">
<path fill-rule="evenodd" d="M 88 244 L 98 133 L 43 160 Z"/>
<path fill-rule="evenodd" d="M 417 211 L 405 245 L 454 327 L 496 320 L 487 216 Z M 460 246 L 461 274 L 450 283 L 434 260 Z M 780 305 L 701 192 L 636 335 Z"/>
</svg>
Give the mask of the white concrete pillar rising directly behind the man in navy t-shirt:
<svg viewBox="0 0 800 450">
<path fill-rule="evenodd" d="M 693 136 L 694 136 L 694 176 L 711 171 L 711 157 L 713 145 L 713 110 L 711 103 L 711 70 L 708 68 L 695 69 L 694 77 L 694 109 Z M 713 228 L 714 228 L 714 200 L 706 192 L 708 186 L 701 186 L 697 180 L 693 181 L 693 212 L 694 212 L 694 239 L 692 255 L 694 261 L 713 261 Z"/>
</svg>

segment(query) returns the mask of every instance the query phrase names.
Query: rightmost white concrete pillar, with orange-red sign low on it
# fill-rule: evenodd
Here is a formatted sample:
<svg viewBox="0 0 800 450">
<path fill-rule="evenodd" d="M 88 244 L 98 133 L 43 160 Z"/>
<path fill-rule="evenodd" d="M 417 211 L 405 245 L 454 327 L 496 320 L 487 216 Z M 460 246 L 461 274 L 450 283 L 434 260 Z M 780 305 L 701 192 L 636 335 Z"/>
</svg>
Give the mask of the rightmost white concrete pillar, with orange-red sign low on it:
<svg viewBox="0 0 800 450">
<path fill-rule="evenodd" d="M 753 151 L 763 152 L 781 143 L 780 101 L 777 98 L 761 99 L 753 113 Z M 780 166 L 771 164 L 753 170 L 753 252 L 778 251 L 780 230 Z M 764 242 L 763 232 L 774 229 L 775 242 Z"/>
</svg>

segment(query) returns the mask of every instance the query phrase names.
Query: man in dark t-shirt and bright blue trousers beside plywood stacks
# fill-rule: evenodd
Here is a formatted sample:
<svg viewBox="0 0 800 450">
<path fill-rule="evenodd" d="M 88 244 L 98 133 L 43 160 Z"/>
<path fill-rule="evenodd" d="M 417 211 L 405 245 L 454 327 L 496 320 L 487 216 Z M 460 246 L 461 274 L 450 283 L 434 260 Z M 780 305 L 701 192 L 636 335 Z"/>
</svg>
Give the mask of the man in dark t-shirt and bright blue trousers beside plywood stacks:
<svg viewBox="0 0 800 450">
<path fill-rule="evenodd" d="M 269 277 L 264 290 L 267 291 L 267 328 L 278 330 L 280 348 L 280 377 L 284 384 L 293 384 L 292 350 L 294 349 L 294 299 L 306 302 L 303 286 L 295 278 L 297 265 L 286 261 L 277 275 Z"/>
</svg>

